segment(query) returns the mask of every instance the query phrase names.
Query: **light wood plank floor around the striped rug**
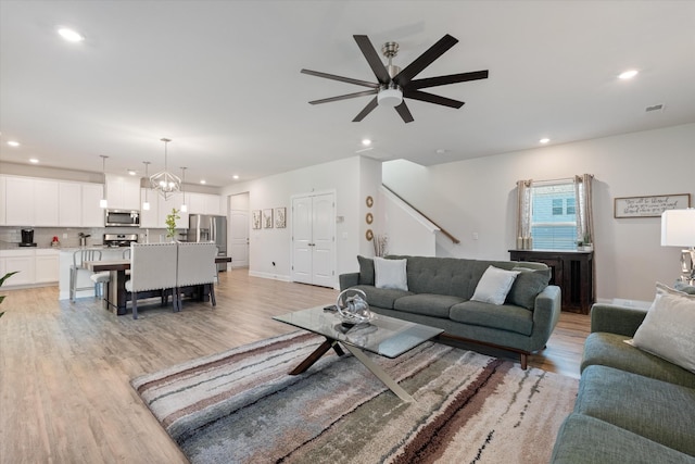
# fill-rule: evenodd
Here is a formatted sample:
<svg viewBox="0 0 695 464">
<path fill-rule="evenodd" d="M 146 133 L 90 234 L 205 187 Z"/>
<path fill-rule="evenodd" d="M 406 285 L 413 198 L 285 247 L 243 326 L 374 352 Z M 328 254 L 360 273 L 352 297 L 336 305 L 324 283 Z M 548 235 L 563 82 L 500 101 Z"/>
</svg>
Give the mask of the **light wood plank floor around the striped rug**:
<svg viewBox="0 0 695 464">
<path fill-rule="evenodd" d="M 92 298 L 58 301 L 58 287 L 0 289 L 0 464 L 186 463 L 129 380 L 291 331 L 270 316 L 337 293 L 236 269 L 220 274 L 215 310 L 146 305 L 134 321 Z M 563 313 L 547 349 L 529 364 L 579 377 L 587 333 L 589 316 Z"/>
</svg>

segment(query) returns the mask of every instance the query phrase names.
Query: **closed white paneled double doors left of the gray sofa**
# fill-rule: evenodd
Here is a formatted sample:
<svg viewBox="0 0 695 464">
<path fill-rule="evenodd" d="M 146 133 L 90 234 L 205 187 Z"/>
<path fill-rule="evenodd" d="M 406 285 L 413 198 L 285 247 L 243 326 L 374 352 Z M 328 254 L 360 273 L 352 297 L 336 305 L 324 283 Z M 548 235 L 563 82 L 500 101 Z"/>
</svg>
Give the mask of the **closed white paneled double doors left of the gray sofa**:
<svg viewBox="0 0 695 464">
<path fill-rule="evenodd" d="M 334 237 L 333 193 L 292 199 L 292 280 L 334 286 Z"/>
</svg>

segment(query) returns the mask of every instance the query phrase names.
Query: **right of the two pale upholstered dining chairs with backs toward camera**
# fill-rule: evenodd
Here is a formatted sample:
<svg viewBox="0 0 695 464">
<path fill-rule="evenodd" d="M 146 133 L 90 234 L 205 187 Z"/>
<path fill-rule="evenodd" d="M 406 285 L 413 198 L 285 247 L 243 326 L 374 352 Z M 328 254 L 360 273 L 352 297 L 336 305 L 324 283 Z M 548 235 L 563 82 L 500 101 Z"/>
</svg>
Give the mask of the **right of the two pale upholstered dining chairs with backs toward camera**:
<svg viewBox="0 0 695 464">
<path fill-rule="evenodd" d="M 182 288 L 192 285 L 208 285 L 210 301 L 213 306 L 215 301 L 215 279 L 217 278 L 217 246 L 210 242 L 181 242 L 178 243 L 178 264 L 176 277 L 176 294 L 178 310 L 181 309 Z"/>
</svg>

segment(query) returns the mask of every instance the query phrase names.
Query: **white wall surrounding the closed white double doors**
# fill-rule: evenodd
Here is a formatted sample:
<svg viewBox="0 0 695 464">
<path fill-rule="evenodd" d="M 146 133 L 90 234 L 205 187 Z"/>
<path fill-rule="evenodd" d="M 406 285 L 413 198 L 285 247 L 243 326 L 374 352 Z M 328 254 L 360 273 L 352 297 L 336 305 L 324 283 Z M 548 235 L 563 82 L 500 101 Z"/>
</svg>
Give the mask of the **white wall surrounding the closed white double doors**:
<svg viewBox="0 0 695 464">
<path fill-rule="evenodd" d="M 380 168 L 379 162 L 353 156 L 223 188 L 222 195 L 225 197 L 248 191 L 251 210 L 287 208 L 287 228 L 251 230 L 250 274 L 280 280 L 290 279 L 290 198 L 321 191 L 336 192 L 336 215 L 341 218 L 336 224 L 336 285 L 338 275 L 357 269 L 355 256 L 370 249 L 370 244 L 365 244 L 364 238 L 366 206 L 363 208 L 363 197 L 372 195 L 376 198 L 381 180 Z"/>
</svg>

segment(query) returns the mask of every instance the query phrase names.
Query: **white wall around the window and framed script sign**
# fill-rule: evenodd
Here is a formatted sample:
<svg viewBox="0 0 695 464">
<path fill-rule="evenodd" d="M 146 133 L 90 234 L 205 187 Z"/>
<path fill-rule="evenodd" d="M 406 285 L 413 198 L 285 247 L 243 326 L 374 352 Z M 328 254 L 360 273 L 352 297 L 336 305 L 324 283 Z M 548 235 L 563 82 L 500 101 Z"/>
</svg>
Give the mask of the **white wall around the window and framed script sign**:
<svg viewBox="0 0 695 464">
<path fill-rule="evenodd" d="M 383 183 L 462 240 L 438 253 L 508 260 L 516 181 L 594 174 L 599 300 L 650 301 L 655 281 L 679 276 L 680 250 L 660 247 L 659 218 L 614 218 L 615 197 L 695 193 L 695 124 L 424 167 L 383 164 Z M 473 234 L 479 239 L 473 240 Z"/>
</svg>

